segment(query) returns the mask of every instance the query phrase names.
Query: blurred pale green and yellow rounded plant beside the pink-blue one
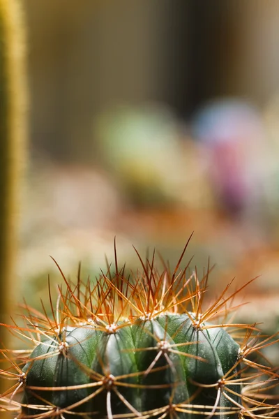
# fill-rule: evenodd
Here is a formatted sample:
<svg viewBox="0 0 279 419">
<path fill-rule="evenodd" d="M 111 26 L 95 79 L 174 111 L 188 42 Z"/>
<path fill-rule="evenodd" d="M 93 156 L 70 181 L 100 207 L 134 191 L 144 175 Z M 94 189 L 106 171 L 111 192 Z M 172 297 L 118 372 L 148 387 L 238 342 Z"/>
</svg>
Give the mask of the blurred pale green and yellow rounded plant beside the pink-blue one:
<svg viewBox="0 0 279 419">
<path fill-rule="evenodd" d="M 185 159 L 169 111 L 146 106 L 104 112 L 96 119 L 95 138 L 100 159 L 133 205 L 179 200 Z"/>
</svg>

